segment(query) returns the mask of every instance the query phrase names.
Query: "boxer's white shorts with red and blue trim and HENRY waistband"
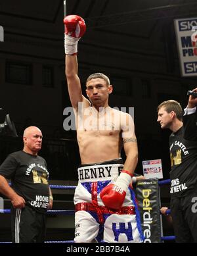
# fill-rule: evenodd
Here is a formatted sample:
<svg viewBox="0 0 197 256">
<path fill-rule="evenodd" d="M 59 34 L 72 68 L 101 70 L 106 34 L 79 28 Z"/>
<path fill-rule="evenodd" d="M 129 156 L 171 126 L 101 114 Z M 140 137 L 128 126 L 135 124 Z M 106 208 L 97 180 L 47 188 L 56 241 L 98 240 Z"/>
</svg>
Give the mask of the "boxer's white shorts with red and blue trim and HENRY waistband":
<svg viewBox="0 0 197 256">
<path fill-rule="evenodd" d="M 142 242 L 140 217 L 136 214 L 133 191 L 127 190 L 118 212 L 110 211 L 100 199 L 102 188 L 116 181 L 122 168 L 123 165 L 116 161 L 78 168 L 79 182 L 74 195 L 75 242 Z"/>
</svg>

